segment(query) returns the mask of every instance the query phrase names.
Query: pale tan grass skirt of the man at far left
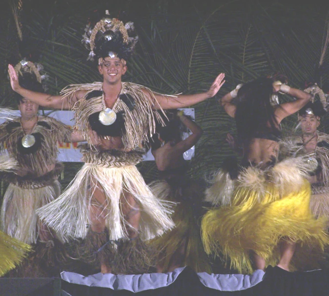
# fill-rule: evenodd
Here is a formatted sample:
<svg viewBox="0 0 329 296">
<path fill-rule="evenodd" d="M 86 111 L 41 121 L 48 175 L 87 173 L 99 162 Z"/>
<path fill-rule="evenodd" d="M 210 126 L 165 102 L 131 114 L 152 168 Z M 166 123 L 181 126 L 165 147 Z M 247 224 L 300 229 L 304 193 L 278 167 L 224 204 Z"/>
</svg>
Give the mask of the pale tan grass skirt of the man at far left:
<svg viewBox="0 0 329 296">
<path fill-rule="evenodd" d="M 53 201 L 60 193 L 58 180 L 53 180 L 52 185 L 33 189 L 10 183 L 1 207 L 2 231 L 27 244 L 37 243 L 41 222 L 35 211 Z"/>
</svg>

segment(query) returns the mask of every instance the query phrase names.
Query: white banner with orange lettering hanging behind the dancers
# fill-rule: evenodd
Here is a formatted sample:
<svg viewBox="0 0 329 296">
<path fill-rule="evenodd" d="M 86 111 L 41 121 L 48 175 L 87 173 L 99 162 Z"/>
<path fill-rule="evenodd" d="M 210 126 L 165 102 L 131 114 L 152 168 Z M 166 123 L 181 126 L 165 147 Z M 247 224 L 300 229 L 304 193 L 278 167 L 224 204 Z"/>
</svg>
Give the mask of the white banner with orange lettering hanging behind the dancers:
<svg viewBox="0 0 329 296">
<path fill-rule="evenodd" d="M 193 108 L 184 108 L 181 109 L 184 110 L 184 113 L 186 115 L 192 116 L 194 118 L 194 109 Z M 21 113 L 19 110 L 16 110 L 17 116 L 20 116 Z M 40 110 L 39 114 L 41 116 L 50 116 L 53 117 L 59 121 L 62 121 L 64 124 L 73 126 L 74 125 L 74 116 L 73 111 L 51 111 L 51 110 L 44 110 L 43 112 Z M 5 120 L 0 119 L 0 123 L 3 123 Z M 183 138 L 188 137 L 188 133 L 184 133 Z M 80 153 L 80 150 L 78 149 L 78 143 L 58 143 L 59 148 L 59 155 L 58 160 L 59 161 L 66 161 L 66 162 L 81 162 L 82 154 Z M 194 156 L 194 146 L 186 151 L 184 153 L 184 158 L 191 159 Z M 154 160 L 153 155 L 151 153 L 151 149 L 147 151 L 147 153 L 144 155 L 143 160 Z"/>
</svg>

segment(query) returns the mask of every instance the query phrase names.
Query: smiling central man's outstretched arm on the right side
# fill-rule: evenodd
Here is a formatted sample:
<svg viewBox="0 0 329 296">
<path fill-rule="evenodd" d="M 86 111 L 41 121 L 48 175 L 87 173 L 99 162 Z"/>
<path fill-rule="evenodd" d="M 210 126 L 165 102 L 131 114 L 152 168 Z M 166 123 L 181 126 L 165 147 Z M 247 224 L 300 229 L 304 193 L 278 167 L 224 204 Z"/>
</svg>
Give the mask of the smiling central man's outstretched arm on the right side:
<svg viewBox="0 0 329 296">
<path fill-rule="evenodd" d="M 225 77 L 224 73 L 218 75 L 215 81 L 212 83 L 210 89 L 206 93 L 201 93 L 201 94 L 179 95 L 177 97 L 155 95 L 157 101 L 154 102 L 148 91 L 145 90 L 144 92 L 149 97 L 150 101 L 154 104 L 153 106 L 154 109 L 185 108 L 215 96 L 225 82 L 224 77 Z"/>
</svg>

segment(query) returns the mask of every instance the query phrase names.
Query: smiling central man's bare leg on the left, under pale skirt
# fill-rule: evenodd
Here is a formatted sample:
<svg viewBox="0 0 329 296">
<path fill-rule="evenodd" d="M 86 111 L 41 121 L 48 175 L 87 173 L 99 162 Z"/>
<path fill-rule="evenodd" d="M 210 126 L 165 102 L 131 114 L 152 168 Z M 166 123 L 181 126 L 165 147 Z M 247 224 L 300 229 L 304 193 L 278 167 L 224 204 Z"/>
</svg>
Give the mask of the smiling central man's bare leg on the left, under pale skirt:
<svg viewBox="0 0 329 296">
<path fill-rule="evenodd" d="M 105 231 L 105 218 L 107 215 L 107 202 L 102 185 L 95 181 L 91 182 L 90 190 L 92 193 L 91 203 L 89 204 L 89 220 L 91 231 L 102 233 Z M 111 268 L 101 260 L 101 272 L 103 274 L 111 273 Z"/>
</svg>

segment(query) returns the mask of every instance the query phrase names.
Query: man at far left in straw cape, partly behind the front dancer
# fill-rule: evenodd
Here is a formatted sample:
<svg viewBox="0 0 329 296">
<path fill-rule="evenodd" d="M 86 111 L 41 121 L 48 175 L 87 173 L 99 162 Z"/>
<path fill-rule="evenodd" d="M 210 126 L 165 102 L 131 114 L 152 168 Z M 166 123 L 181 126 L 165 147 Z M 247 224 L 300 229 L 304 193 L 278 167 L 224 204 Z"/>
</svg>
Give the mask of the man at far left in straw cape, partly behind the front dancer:
<svg viewBox="0 0 329 296">
<path fill-rule="evenodd" d="M 30 92 L 43 92 L 38 65 L 21 60 L 15 69 L 20 83 Z M 61 194 L 58 176 L 62 164 L 57 162 L 58 142 L 83 140 L 78 133 L 51 117 L 38 116 L 39 105 L 17 94 L 21 116 L 4 115 L 7 121 L 0 125 L 1 149 L 18 162 L 15 173 L 3 173 L 9 183 L 1 207 L 1 230 L 26 244 L 33 245 L 31 260 L 45 261 L 44 254 L 55 254 L 62 244 L 55 234 L 37 216 L 36 210 Z M 60 252 L 61 253 L 61 252 Z M 62 253 L 63 254 L 63 253 Z M 52 261 L 50 258 L 47 258 Z M 30 261 L 31 261 L 30 260 Z M 36 267 L 20 276 L 53 276 L 50 269 L 57 269 L 56 262 L 48 262 L 49 272 Z M 52 265 L 53 264 L 53 265 Z M 41 265 L 40 265 L 41 266 Z M 24 269 L 24 268 L 23 268 Z M 45 272 L 45 273 L 44 273 Z"/>
</svg>

